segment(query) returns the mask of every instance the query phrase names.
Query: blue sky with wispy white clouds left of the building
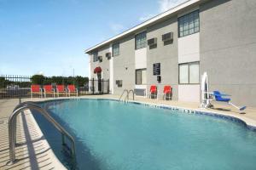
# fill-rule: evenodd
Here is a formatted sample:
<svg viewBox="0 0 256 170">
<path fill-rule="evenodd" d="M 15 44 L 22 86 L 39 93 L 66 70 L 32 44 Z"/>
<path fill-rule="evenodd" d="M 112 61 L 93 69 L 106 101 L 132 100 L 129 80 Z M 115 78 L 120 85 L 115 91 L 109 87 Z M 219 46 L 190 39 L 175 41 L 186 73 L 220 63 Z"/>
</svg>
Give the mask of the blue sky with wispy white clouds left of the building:
<svg viewBox="0 0 256 170">
<path fill-rule="evenodd" d="M 86 48 L 185 0 L 0 0 L 0 75 L 88 77 Z"/>
</svg>

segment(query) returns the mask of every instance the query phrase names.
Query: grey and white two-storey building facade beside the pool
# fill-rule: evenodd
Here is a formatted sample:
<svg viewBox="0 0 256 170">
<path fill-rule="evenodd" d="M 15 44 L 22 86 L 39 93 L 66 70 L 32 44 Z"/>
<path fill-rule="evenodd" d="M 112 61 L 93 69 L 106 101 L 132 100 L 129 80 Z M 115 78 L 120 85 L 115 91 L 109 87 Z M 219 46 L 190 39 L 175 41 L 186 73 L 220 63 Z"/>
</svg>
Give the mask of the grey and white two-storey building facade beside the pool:
<svg viewBox="0 0 256 170">
<path fill-rule="evenodd" d="M 254 0 L 189 0 L 85 53 L 90 78 L 109 79 L 112 94 L 148 96 L 153 84 L 162 94 L 171 85 L 172 99 L 199 103 L 207 71 L 210 91 L 256 106 Z"/>
</svg>

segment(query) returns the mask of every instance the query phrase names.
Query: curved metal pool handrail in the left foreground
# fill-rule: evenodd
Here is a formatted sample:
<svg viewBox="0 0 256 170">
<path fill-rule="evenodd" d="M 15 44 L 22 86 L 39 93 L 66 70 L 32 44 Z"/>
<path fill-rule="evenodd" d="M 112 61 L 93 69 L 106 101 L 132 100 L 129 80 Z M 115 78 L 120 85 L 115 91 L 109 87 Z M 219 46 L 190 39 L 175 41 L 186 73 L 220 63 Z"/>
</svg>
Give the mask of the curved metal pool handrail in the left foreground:
<svg viewBox="0 0 256 170">
<path fill-rule="evenodd" d="M 61 133 L 62 145 L 65 146 L 67 150 L 70 151 L 70 155 L 73 158 L 75 158 L 75 143 L 74 143 L 73 136 L 67 133 L 64 127 L 61 127 L 61 125 L 58 122 L 56 122 L 55 119 L 52 116 L 50 116 L 49 113 L 44 108 L 42 108 L 40 105 L 37 105 L 29 101 L 29 102 L 23 102 L 23 103 L 20 103 L 20 105 L 17 105 L 12 115 L 9 117 L 9 157 L 10 157 L 9 164 L 13 164 L 15 162 L 16 123 L 17 123 L 16 118 L 21 112 L 26 110 L 38 111 L 38 113 L 42 114 L 51 124 L 53 124 L 54 127 Z M 70 140 L 72 144 L 71 148 L 69 148 L 65 143 L 65 136 L 67 137 L 67 139 Z"/>
</svg>

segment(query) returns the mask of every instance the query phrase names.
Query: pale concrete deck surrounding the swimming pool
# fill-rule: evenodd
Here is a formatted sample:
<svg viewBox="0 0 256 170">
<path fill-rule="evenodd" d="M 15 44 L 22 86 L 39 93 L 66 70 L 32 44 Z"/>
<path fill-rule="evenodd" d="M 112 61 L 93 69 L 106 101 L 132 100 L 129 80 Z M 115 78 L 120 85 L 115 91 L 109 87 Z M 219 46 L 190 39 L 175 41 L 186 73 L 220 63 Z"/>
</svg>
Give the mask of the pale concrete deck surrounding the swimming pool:
<svg viewBox="0 0 256 170">
<path fill-rule="evenodd" d="M 42 101 L 47 99 L 22 99 L 24 101 Z M 66 99 L 66 98 L 55 98 Z M 68 98 L 74 99 L 74 98 Z M 119 99 L 115 95 L 88 95 L 79 97 L 79 99 Z M 135 97 L 135 101 L 149 105 L 165 105 L 189 110 L 214 112 L 219 115 L 233 116 L 246 122 L 247 125 L 256 127 L 256 108 L 248 107 L 243 113 L 231 108 L 229 105 L 219 105 L 213 103 L 216 109 L 200 109 L 198 103 L 180 102 L 175 100 L 157 100 Z M 7 166 L 9 161 L 9 136 L 8 121 L 13 109 L 18 105 L 19 99 L 0 99 L 0 169 L 65 169 L 61 162 L 55 157 L 50 149 L 44 134 L 40 131 L 38 124 L 33 119 L 29 111 L 18 116 L 17 124 L 17 143 L 15 149 L 18 161 L 11 166 Z"/>
</svg>

